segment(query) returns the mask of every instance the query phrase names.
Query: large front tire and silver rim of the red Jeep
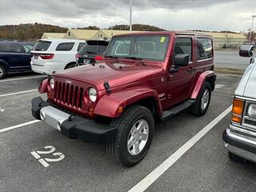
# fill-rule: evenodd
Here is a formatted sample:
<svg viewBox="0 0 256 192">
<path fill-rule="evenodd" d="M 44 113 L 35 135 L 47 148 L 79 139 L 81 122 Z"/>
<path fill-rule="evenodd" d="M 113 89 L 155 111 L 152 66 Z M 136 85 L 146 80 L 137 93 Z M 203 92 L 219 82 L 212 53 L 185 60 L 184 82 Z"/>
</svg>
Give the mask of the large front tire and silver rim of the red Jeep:
<svg viewBox="0 0 256 192">
<path fill-rule="evenodd" d="M 114 142 L 106 145 L 107 154 L 123 166 L 134 166 L 146 156 L 154 133 L 154 118 L 144 106 L 130 106 L 110 126 L 118 129 Z"/>
</svg>

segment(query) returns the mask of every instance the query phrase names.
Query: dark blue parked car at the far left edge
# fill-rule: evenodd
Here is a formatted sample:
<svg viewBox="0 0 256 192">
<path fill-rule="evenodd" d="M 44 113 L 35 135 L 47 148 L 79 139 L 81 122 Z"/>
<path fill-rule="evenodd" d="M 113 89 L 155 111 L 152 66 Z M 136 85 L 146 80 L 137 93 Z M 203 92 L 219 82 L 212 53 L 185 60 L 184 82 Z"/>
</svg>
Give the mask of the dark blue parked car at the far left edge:
<svg viewBox="0 0 256 192">
<path fill-rule="evenodd" d="M 12 72 L 31 70 L 30 50 L 33 46 L 30 42 L 0 41 L 0 78 Z"/>
</svg>

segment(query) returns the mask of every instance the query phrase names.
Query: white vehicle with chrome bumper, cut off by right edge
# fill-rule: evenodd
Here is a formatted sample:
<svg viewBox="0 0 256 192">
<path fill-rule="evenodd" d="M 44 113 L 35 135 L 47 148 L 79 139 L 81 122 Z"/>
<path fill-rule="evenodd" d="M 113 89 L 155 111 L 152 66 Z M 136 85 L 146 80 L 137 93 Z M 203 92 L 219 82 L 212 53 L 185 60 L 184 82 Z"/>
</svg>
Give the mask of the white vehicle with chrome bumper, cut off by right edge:
<svg viewBox="0 0 256 192">
<path fill-rule="evenodd" d="M 230 126 L 224 130 L 228 155 L 235 162 L 256 162 L 256 62 L 254 46 L 241 46 L 242 57 L 252 57 L 234 93 Z"/>
</svg>

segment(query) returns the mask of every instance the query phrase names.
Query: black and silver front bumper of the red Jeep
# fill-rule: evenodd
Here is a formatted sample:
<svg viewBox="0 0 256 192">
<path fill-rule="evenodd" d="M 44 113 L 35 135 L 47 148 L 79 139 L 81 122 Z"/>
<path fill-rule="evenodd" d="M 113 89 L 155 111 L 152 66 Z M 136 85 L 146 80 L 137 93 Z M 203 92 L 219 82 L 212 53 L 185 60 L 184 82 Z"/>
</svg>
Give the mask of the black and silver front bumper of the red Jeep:
<svg viewBox="0 0 256 192">
<path fill-rule="evenodd" d="M 46 122 L 68 138 L 109 143 L 114 141 L 117 133 L 117 129 L 109 125 L 58 110 L 52 103 L 45 102 L 41 97 L 32 99 L 31 110 L 34 118 Z"/>
</svg>

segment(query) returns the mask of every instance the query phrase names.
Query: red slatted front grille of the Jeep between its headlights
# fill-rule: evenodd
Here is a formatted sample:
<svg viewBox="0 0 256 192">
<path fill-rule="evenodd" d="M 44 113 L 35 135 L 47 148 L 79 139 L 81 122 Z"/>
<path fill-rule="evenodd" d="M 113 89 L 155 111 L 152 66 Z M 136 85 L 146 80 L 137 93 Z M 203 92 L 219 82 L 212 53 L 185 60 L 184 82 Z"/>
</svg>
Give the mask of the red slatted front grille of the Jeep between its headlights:
<svg viewBox="0 0 256 192">
<path fill-rule="evenodd" d="M 82 108 L 83 88 L 66 82 L 55 82 L 54 100 L 67 106 Z"/>
</svg>

